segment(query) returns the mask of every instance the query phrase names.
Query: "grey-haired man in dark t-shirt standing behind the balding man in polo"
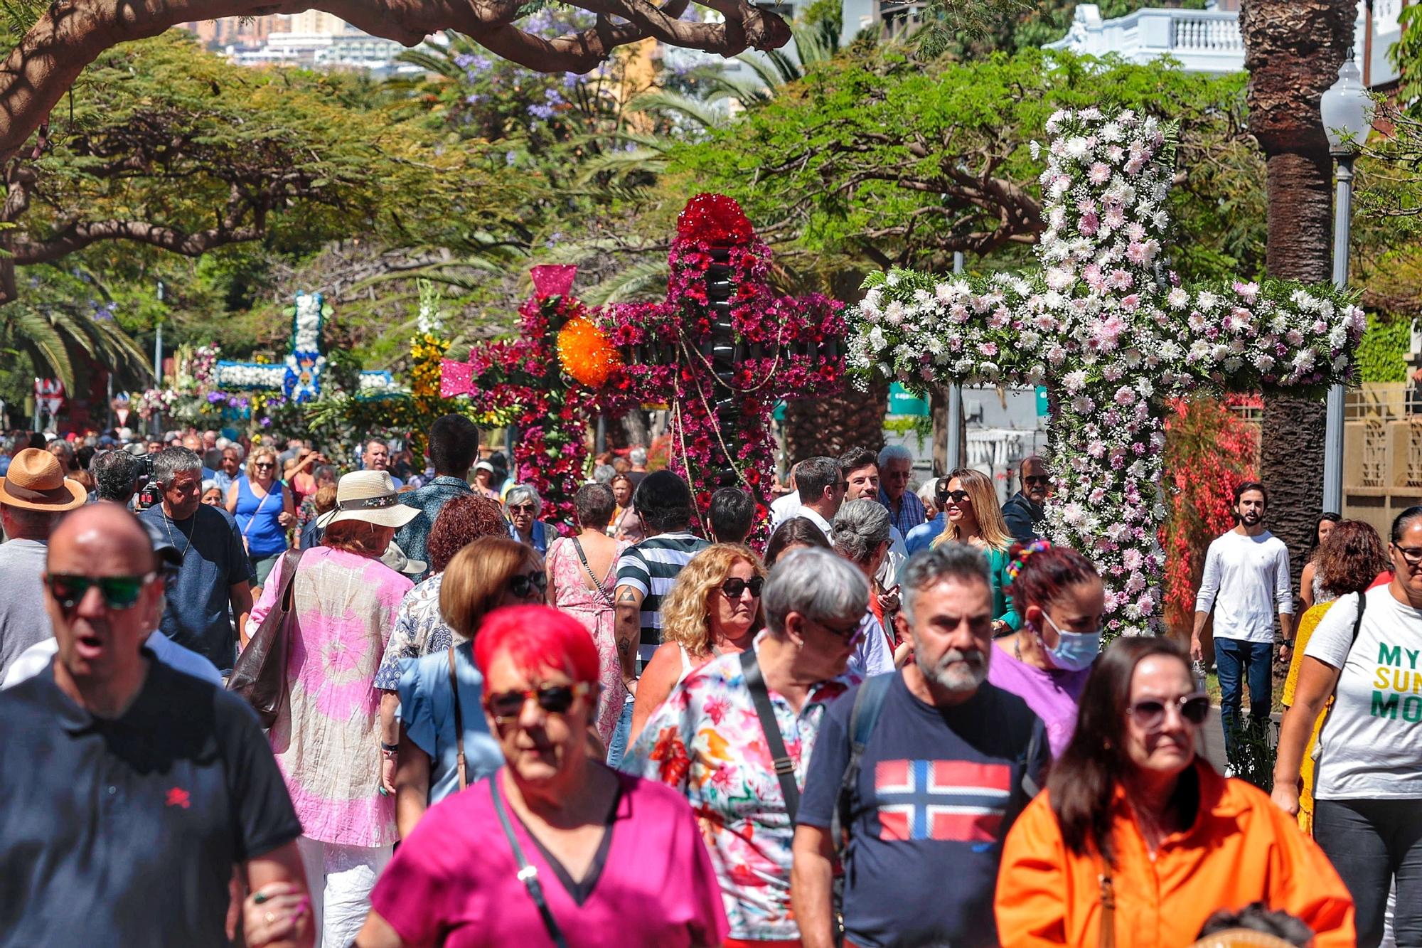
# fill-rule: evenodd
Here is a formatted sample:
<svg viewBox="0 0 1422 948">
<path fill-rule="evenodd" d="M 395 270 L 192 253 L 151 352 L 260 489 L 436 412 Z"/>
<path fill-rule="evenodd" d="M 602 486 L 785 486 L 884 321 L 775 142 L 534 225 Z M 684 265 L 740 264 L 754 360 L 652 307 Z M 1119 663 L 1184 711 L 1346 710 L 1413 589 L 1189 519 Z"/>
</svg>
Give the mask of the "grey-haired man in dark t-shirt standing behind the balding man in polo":
<svg viewBox="0 0 1422 948">
<path fill-rule="evenodd" d="M 202 502 L 202 461 L 188 448 L 159 451 L 154 478 L 164 502 L 139 517 L 182 554 L 159 628 L 226 673 L 237 658 L 237 629 L 252 612 L 252 562 L 242 545 L 242 531 L 232 514 Z"/>
</svg>

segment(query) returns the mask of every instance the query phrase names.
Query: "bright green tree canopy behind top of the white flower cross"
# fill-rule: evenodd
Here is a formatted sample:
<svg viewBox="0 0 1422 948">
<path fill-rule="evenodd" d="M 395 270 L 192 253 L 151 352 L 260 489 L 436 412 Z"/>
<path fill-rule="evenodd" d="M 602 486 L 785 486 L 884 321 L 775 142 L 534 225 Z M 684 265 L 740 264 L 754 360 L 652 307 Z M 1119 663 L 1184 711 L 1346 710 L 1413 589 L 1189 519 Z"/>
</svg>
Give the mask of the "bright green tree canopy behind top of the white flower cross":
<svg viewBox="0 0 1422 948">
<path fill-rule="evenodd" d="M 1139 108 L 1180 124 L 1173 265 L 1186 278 L 1263 268 L 1263 167 L 1244 132 L 1244 75 L 1030 50 L 914 63 L 893 48 L 803 81 L 668 151 L 673 174 L 737 198 L 805 251 L 946 269 L 953 249 L 1020 262 L 1039 228 L 1030 142 L 1058 108 Z M 1018 251 L 1012 251 L 1018 248 Z"/>
</svg>

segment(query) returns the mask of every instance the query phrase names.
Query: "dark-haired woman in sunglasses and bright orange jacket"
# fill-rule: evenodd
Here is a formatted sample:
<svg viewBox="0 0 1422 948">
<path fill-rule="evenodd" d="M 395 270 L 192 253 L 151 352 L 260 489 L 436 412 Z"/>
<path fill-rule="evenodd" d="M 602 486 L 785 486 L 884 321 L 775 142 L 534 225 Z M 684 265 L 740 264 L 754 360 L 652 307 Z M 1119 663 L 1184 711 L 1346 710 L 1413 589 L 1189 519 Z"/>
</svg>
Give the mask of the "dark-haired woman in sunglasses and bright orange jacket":
<svg viewBox="0 0 1422 948">
<path fill-rule="evenodd" d="M 1268 796 L 1197 759 L 1210 702 L 1167 639 L 1116 641 L 1081 696 L 1047 791 L 1007 836 L 1004 948 L 1190 945 L 1221 908 L 1263 901 L 1354 944 L 1352 898 Z"/>
</svg>

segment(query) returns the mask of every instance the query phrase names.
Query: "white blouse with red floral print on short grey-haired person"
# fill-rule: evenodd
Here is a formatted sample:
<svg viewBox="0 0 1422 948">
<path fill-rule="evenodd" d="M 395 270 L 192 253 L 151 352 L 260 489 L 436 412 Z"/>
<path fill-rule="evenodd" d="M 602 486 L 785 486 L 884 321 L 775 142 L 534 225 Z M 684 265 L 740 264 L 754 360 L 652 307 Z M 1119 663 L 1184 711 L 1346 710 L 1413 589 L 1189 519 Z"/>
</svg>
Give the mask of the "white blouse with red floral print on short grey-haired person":
<svg viewBox="0 0 1422 948">
<path fill-rule="evenodd" d="M 825 706 L 857 680 L 846 673 L 818 685 L 798 715 L 769 692 L 801 787 Z M 627 750 L 621 769 L 675 787 L 691 803 L 721 883 L 731 938 L 799 938 L 791 912 L 795 827 L 739 655 L 712 659 L 677 685 Z"/>
</svg>

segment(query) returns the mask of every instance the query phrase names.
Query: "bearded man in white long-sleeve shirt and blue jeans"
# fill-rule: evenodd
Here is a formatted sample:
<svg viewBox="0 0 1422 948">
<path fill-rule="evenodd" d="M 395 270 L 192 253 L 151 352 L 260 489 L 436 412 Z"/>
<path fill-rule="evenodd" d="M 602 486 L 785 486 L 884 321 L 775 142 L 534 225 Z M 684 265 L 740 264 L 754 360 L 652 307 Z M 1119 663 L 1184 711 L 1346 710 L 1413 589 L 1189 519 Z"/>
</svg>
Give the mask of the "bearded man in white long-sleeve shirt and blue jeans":
<svg viewBox="0 0 1422 948">
<path fill-rule="evenodd" d="M 1200 660 L 1200 633 L 1214 609 L 1214 663 L 1220 679 L 1224 756 L 1233 766 L 1239 734 L 1240 685 L 1249 682 L 1250 733 L 1263 736 L 1273 697 L 1274 612 L 1284 635 L 1281 658 L 1294 641 L 1294 598 L 1288 548 L 1264 530 L 1268 493 L 1258 481 L 1234 488 L 1234 530 L 1204 554 L 1204 575 L 1194 599 L 1190 658 Z"/>
</svg>

